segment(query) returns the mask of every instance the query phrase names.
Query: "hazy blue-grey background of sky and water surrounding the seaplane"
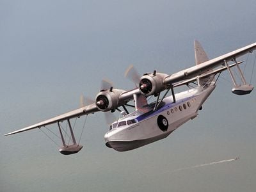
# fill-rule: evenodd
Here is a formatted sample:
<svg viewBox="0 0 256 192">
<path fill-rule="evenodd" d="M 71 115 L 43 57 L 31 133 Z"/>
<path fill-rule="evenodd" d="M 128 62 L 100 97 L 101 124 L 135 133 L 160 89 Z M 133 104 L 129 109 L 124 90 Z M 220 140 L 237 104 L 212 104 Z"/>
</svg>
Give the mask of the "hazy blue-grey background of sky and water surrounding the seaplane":
<svg viewBox="0 0 256 192">
<path fill-rule="evenodd" d="M 103 78 L 133 88 L 124 78 L 131 63 L 140 74 L 191 67 L 194 39 L 209 58 L 252 44 L 255 8 L 247 0 L 0 0 L 0 135 L 78 108 Z M 231 88 L 223 74 L 195 120 L 129 152 L 105 146 L 102 113 L 88 116 L 74 156 L 37 129 L 1 137 L 0 191 L 255 191 L 255 91 L 238 97 Z"/>
</svg>

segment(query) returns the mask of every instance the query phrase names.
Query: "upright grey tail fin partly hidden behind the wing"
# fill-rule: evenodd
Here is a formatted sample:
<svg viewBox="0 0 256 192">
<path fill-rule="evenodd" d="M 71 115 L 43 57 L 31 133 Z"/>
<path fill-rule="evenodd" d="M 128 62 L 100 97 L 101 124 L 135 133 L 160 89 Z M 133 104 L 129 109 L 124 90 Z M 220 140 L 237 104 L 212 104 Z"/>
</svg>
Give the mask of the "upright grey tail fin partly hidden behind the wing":
<svg viewBox="0 0 256 192">
<path fill-rule="evenodd" d="M 195 61 L 196 61 L 196 65 L 200 65 L 201 63 L 204 63 L 205 61 L 208 61 L 208 56 L 206 54 L 206 52 L 204 51 L 202 45 L 195 40 L 194 41 L 194 46 L 195 46 Z M 211 83 L 211 81 L 214 79 L 214 76 L 207 76 L 204 78 L 198 78 L 198 85 L 199 86 L 205 86 L 209 83 Z"/>
</svg>

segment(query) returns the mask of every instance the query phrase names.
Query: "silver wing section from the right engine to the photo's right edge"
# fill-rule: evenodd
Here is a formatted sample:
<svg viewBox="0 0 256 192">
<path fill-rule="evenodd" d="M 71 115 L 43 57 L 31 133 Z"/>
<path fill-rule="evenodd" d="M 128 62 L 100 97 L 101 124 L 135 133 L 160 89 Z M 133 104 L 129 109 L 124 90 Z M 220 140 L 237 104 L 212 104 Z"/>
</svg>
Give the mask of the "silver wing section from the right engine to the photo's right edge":
<svg viewBox="0 0 256 192">
<path fill-rule="evenodd" d="M 191 79 L 196 76 L 200 76 L 204 74 L 208 70 L 216 68 L 220 65 L 223 65 L 225 61 L 231 61 L 239 56 L 243 56 L 244 54 L 253 51 L 256 49 L 256 43 L 247 45 L 242 47 L 241 49 L 237 49 L 236 51 L 228 52 L 227 54 L 223 54 L 217 58 L 201 63 L 200 65 L 196 65 L 194 67 L 187 68 L 175 74 L 172 74 L 164 79 L 165 84 L 174 84 L 180 81 L 184 81 L 185 79 Z"/>
</svg>

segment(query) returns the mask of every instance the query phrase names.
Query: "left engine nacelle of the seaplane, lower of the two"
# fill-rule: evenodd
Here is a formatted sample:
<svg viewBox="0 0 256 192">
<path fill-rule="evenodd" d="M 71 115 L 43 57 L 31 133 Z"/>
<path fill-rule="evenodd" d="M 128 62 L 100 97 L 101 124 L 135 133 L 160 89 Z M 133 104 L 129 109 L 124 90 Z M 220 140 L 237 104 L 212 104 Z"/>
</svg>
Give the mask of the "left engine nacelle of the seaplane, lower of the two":
<svg viewBox="0 0 256 192">
<path fill-rule="evenodd" d="M 100 111 L 110 111 L 122 105 L 120 95 L 124 90 L 111 89 L 105 90 L 96 95 L 95 104 Z"/>
</svg>

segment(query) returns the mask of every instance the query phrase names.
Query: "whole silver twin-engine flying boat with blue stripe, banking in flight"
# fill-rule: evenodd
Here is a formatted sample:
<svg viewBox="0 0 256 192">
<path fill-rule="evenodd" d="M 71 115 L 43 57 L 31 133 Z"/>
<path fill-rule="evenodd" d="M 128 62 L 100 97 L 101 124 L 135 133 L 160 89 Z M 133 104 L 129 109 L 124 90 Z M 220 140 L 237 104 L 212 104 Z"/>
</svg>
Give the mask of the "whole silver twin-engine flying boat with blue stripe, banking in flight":
<svg viewBox="0 0 256 192">
<path fill-rule="evenodd" d="M 228 52 L 212 60 L 208 59 L 198 41 L 195 40 L 194 45 L 195 65 L 193 67 L 174 74 L 164 74 L 154 70 L 154 72 L 138 77 L 132 72 L 134 68 L 131 66 L 126 74 L 130 73 L 136 88 L 128 91 L 121 90 L 113 88 L 111 84 L 107 83 L 107 87 L 103 87 L 97 93 L 92 103 L 38 124 L 4 134 L 4 136 L 36 128 L 44 129 L 47 125 L 57 124 L 63 145 L 60 148 L 61 154 L 76 154 L 83 146 L 77 143 L 70 120 L 92 115 L 99 111 L 104 113 L 119 111 L 120 118 L 111 123 L 109 131 L 104 135 L 104 140 L 107 147 L 124 152 L 162 140 L 182 124 L 198 116 L 198 111 L 202 109 L 205 100 L 216 88 L 218 77 L 225 70 L 230 74 L 234 84 L 232 93 L 247 95 L 252 92 L 253 86 L 247 83 L 240 68 L 244 61 L 239 61 L 237 58 L 244 54 L 252 54 L 253 50 L 256 49 L 256 43 Z M 237 83 L 232 68 L 236 68 L 241 80 L 240 84 Z M 195 86 L 189 86 L 191 84 Z M 176 93 L 176 88 L 179 86 L 188 86 L 188 89 Z M 170 95 L 168 95 L 169 92 Z M 154 101 L 149 102 L 150 97 L 154 97 Z M 133 104 L 130 104 L 131 102 Z M 134 108 L 133 111 L 129 112 L 127 106 Z M 61 123 L 64 121 L 67 122 L 71 135 L 71 144 L 67 143 L 67 138 L 65 139 L 63 136 Z M 65 132 L 67 133 L 67 131 Z"/>
</svg>

